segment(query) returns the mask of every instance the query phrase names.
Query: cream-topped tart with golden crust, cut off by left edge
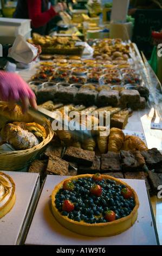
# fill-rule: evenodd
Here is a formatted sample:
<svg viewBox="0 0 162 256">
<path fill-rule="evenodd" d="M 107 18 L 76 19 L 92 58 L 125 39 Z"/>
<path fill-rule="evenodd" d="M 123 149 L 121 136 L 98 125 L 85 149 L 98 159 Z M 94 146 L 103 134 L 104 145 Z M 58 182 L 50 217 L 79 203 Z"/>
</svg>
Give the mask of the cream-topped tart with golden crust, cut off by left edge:
<svg viewBox="0 0 162 256">
<path fill-rule="evenodd" d="M 8 214 L 15 204 L 15 183 L 12 178 L 0 172 L 0 218 Z"/>
</svg>

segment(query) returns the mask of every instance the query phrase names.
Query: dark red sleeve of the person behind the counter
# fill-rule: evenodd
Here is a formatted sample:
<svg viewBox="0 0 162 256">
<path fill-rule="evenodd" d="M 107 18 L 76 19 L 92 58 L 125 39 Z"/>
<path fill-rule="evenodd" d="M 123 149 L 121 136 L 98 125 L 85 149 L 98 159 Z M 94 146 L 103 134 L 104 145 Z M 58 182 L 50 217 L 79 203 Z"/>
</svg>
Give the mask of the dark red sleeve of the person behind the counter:
<svg viewBox="0 0 162 256">
<path fill-rule="evenodd" d="M 25 0 L 28 4 L 29 19 L 31 19 L 31 25 L 35 28 L 41 27 L 49 22 L 53 17 L 57 15 L 51 6 L 49 10 L 41 13 L 41 0 Z"/>
</svg>

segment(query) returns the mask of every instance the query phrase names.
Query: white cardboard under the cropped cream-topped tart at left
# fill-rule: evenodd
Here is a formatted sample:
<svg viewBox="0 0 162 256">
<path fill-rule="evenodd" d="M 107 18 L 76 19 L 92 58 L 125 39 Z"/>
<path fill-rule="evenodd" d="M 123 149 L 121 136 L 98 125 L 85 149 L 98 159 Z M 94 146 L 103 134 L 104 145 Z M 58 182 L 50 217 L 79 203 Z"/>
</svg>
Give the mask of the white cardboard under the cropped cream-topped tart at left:
<svg viewBox="0 0 162 256">
<path fill-rule="evenodd" d="M 21 245 L 40 190 L 40 176 L 37 173 L 2 172 L 15 182 L 16 201 L 10 212 L 0 219 L 0 245 Z"/>
</svg>

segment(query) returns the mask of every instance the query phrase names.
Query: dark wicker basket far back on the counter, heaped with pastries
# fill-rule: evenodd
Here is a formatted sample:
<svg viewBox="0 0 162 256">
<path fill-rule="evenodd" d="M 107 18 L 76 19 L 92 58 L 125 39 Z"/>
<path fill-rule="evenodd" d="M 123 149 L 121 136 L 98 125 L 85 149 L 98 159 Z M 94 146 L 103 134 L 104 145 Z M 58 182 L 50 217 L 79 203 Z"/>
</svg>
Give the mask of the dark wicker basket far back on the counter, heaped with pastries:
<svg viewBox="0 0 162 256">
<path fill-rule="evenodd" d="M 42 54 L 65 54 L 65 55 L 79 55 L 81 56 L 84 50 L 84 46 L 76 46 L 71 48 L 53 48 L 53 47 L 41 47 Z"/>
</svg>

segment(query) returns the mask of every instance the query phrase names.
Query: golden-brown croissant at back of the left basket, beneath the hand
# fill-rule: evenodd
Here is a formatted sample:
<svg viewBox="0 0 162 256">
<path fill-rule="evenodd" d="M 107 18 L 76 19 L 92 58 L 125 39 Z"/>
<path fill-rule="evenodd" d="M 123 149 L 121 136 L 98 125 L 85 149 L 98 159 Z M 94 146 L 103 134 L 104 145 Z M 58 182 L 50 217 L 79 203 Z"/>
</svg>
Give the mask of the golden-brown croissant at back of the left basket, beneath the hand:
<svg viewBox="0 0 162 256">
<path fill-rule="evenodd" d="M 24 121 L 27 123 L 33 121 L 33 117 L 31 117 L 31 115 L 28 113 L 24 115 L 22 113 L 21 107 L 18 105 L 9 106 L 0 104 L 0 114 L 13 121 Z"/>
</svg>

